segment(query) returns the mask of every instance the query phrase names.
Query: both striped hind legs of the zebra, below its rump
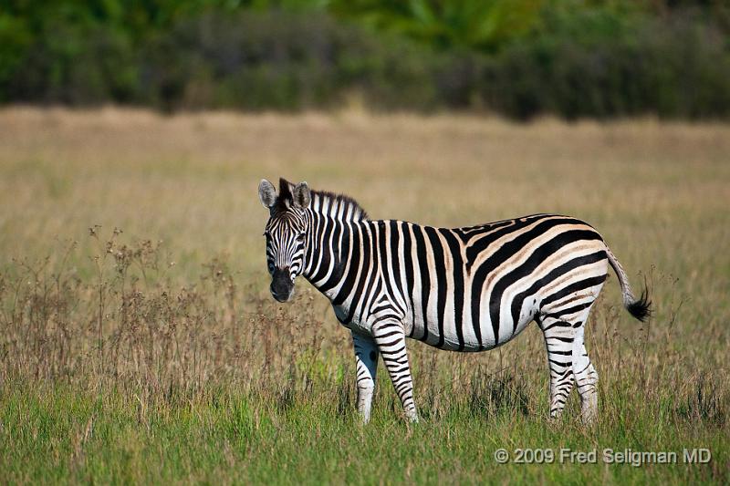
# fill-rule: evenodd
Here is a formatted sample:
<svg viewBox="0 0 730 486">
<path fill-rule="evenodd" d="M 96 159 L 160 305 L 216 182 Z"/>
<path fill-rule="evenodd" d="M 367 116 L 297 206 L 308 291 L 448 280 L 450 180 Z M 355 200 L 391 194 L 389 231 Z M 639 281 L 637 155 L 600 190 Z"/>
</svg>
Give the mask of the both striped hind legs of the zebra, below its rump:
<svg viewBox="0 0 730 486">
<path fill-rule="evenodd" d="M 574 386 L 580 395 L 583 422 L 589 424 L 597 417 L 599 376 L 584 345 L 584 324 L 589 310 L 590 305 L 575 315 L 548 314 L 540 320 L 550 369 L 551 419 L 560 417 Z"/>
</svg>

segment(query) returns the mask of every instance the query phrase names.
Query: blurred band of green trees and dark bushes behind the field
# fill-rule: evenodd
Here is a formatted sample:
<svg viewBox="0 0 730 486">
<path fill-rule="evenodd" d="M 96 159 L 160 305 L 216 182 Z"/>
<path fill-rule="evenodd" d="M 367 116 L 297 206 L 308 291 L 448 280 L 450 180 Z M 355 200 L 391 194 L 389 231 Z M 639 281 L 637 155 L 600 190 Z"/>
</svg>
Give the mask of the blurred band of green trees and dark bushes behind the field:
<svg viewBox="0 0 730 486">
<path fill-rule="evenodd" d="M 3 0 L 0 102 L 730 115 L 723 0 Z"/>
</svg>

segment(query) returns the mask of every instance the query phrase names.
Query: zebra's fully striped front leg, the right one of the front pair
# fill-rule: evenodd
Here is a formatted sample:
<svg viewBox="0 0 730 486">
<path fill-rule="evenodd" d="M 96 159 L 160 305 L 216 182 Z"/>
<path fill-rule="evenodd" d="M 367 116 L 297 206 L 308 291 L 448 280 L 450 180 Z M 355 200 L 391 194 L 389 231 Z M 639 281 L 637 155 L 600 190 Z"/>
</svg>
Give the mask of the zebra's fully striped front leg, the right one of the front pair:
<svg viewBox="0 0 730 486">
<path fill-rule="evenodd" d="M 372 326 L 372 336 L 382 354 L 382 362 L 388 369 L 395 392 L 401 398 L 406 417 L 418 422 L 413 402 L 413 381 L 408 353 L 405 348 L 405 332 L 399 320 L 384 319 Z"/>
</svg>

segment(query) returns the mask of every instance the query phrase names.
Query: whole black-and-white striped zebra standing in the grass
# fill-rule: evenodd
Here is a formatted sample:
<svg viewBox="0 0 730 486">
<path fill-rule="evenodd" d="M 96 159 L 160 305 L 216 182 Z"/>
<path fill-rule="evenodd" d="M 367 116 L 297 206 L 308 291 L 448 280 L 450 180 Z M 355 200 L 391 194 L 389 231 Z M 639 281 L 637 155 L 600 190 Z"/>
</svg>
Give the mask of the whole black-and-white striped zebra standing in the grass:
<svg viewBox="0 0 730 486">
<path fill-rule="evenodd" d="M 348 196 L 307 182 L 258 187 L 269 210 L 266 263 L 271 295 L 291 299 L 301 275 L 326 295 L 355 351 L 360 419 L 370 420 L 378 357 L 407 419 L 418 421 L 405 338 L 475 352 L 502 346 L 532 321 L 542 330 L 550 372 L 550 418 L 558 419 L 572 388 L 580 416 L 598 412 L 598 373 L 584 346 L 591 305 L 608 276 L 619 278 L 623 305 L 651 315 L 600 234 L 559 214 L 462 228 L 370 220 Z"/>
</svg>

